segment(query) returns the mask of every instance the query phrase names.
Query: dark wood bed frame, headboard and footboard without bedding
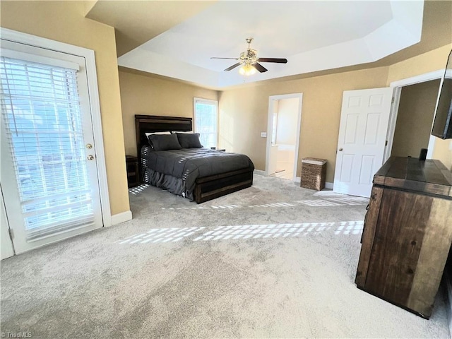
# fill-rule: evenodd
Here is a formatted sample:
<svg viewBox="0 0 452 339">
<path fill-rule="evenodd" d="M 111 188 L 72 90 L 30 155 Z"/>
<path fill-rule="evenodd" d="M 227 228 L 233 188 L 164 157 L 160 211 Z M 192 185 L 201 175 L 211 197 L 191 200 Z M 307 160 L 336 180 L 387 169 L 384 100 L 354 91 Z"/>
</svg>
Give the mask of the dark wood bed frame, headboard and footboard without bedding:
<svg viewBox="0 0 452 339">
<path fill-rule="evenodd" d="M 138 163 L 140 164 L 140 181 L 143 178 L 141 166 L 141 148 L 148 145 L 145 133 L 162 131 L 193 131 L 191 118 L 184 117 L 160 117 L 156 115 L 136 115 L 136 150 Z M 194 189 L 194 200 L 203 203 L 220 196 L 225 196 L 241 189 L 246 189 L 253 184 L 254 169 L 239 169 L 237 171 L 225 172 L 196 179 Z"/>
</svg>

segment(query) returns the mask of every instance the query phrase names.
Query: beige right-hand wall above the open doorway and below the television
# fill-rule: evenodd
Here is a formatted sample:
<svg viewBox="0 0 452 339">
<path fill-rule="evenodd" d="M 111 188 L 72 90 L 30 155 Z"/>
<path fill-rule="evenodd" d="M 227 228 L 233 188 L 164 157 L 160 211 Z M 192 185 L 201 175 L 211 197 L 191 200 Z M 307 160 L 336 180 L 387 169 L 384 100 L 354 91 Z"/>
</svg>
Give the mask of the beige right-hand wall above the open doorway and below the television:
<svg viewBox="0 0 452 339">
<path fill-rule="evenodd" d="M 420 54 L 417 57 L 401 61 L 397 64 L 389 66 L 388 81 L 389 85 L 392 81 L 419 76 L 446 67 L 448 54 L 451 52 L 452 44 L 434 49 L 430 52 Z M 433 150 L 433 158 L 441 160 L 449 169 L 452 162 L 452 150 L 449 148 L 450 141 L 444 141 L 436 138 Z"/>
</svg>

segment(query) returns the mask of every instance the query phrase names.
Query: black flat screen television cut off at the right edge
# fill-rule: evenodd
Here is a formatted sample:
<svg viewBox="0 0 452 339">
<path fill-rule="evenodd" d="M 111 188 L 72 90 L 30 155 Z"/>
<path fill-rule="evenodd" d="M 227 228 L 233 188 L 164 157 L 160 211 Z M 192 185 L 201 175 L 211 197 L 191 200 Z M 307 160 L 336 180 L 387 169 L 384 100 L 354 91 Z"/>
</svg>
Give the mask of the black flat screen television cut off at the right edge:
<svg viewBox="0 0 452 339">
<path fill-rule="evenodd" d="M 439 85 L 432 136 L 441 139 L 452 138 L 452 51 L 447 59 L 441 85 Z"/>
</svg>

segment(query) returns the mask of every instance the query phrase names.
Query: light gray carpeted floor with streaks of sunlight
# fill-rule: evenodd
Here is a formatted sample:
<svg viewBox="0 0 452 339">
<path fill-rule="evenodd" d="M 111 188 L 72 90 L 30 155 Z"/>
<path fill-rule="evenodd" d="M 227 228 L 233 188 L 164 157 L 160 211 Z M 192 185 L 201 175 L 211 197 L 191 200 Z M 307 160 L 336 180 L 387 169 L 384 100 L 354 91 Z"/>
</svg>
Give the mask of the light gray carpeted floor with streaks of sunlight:
<svg viewBox="0 0 452 339">
<path fill-rule="evenodd" d="M 133 220 L 1 261 L 1 332 L 32 338 L 449 338 L 358 290 L 367 200 L 255 175 L 201 205 L 155 187 Z"/>
</svg>

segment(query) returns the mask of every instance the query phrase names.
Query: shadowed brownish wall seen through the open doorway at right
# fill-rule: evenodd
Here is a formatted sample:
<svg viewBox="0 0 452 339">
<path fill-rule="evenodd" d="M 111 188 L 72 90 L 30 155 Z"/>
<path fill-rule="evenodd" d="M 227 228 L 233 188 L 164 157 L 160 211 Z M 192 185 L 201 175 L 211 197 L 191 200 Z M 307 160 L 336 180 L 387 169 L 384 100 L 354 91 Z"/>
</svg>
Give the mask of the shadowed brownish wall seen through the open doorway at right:
<svg viewBox="0 0 452 339">
<path fill-rule="evenodd" d="M 391 155 L 419 157 L 429 145 L 439 79 L 402 88 Z"/>
</svg>

